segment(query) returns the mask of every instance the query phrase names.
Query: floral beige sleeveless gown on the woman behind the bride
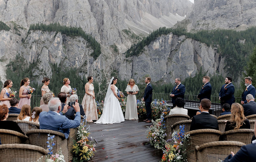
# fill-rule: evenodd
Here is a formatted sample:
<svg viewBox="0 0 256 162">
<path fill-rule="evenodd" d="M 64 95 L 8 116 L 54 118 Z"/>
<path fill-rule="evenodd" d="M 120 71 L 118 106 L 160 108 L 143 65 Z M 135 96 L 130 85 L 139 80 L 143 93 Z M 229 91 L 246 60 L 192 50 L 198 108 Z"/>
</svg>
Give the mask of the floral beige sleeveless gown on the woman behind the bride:
<svg viewBox="0 0 256 162">
<path fill-rule="evenodd" d="M 93 94 L 94 87 L 89 84 L 88 92 Z M 92 99 L 91 95 L 85 94 L 82 101 L 82 106 L 84 113 L 87 118 L 87 122 L 92 122 L 92 120 L 98 120 L 98 112 L 95 99 Z"/>
</svg>

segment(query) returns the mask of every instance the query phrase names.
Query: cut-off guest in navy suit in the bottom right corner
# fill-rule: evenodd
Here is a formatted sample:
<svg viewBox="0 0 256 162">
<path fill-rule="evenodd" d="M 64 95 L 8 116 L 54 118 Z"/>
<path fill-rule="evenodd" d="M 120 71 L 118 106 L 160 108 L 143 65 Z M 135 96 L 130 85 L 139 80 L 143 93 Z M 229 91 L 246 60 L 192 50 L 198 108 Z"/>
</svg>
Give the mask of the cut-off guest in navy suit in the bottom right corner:
<svg viewBox="0 0 256 162">
<path fill-rule="evenodd" d="M 256 137 L 256 122 L 254 124 L 254 137 Z M 251 144 L 243 145 L 241 149 L 236 153 L 236 155 L 231 152 L 231 154 L 224 160 L 224 162 L 253 162 L 255 159 L 256 140 L 252 141 Z"/>
</svg>

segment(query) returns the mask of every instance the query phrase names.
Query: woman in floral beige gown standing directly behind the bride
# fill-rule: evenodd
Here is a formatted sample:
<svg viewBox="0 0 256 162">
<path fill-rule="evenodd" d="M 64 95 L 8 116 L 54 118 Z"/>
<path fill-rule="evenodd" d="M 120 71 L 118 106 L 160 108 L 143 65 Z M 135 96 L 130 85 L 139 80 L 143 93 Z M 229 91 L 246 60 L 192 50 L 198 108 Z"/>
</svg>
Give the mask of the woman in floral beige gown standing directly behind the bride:
<svg viewBox="0 0 256 162">
<path fill-rule="evenodd" d="M 87 122 L 92 123 L 92 120 L 98 120 L 98 112 L 95 102 L 95 93 L 93 86 L 93 77 L 89 76 L 87 78 L 88 83 L 85 84 L 85 95 L 83 97 L 82 106 L 84 113 L 87 118 Z"/>
</svg>

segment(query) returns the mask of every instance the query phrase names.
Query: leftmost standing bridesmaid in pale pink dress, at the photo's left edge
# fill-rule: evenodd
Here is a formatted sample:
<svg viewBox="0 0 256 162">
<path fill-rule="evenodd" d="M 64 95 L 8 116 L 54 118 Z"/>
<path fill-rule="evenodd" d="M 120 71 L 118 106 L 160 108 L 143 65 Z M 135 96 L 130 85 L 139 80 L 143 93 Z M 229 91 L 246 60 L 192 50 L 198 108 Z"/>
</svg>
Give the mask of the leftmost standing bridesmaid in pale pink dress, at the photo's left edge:
<svg viewBox="0 0 256 162">
<path fill-rule="evenodd" d="M 13 82 L 12 80 L 6 80 L 4 82 L 4 88 L 2 89 L 1 93 L 0 93 L 0 105 L 6 105 L 8 108 L 11 107 L 10 105 L 10 97 L 7 96 L 7 92 L 10 92 L 11 91 L 11 87 L 13 86 Z"/>
</svg>

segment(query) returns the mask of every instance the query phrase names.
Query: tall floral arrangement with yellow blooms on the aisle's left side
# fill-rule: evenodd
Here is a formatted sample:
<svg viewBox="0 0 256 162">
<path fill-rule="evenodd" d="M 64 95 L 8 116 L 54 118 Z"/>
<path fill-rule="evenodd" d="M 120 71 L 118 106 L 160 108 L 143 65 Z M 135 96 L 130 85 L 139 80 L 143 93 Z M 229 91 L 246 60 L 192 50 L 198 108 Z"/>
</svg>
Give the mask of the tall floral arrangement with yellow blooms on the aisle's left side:
<svg viewBox="0 0 256 162">
<path fill-rule="evenodd" d="M 72 147 L 74 149 L 73 162 L 89 161 L 94 156 L 95 144 L 89 134 L 90 126 L 86 127 L 86 116 L 84 115 L 83 122 L 77 130 L 77 141 Z"/>
</svg>

